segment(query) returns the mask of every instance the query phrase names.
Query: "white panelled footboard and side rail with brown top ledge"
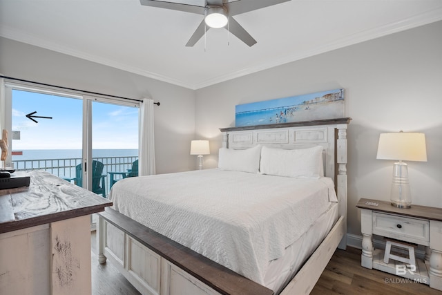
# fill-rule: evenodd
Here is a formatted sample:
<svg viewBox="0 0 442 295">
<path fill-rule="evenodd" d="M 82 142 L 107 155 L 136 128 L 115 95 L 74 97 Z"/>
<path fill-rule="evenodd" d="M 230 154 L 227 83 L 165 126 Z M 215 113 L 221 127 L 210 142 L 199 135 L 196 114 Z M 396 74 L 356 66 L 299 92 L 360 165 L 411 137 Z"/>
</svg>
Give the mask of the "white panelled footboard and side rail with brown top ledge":
<svg viewBox="0 0 442 295">
<path fill-rule="evenodd" d="M 281 294 L 309 294 L 345 234 L 340 217 Z M 113 209 L 99 213 L 99 262 L 110 259 L 142 294 L 250 294 L 273 291 Z"/>
</svg>

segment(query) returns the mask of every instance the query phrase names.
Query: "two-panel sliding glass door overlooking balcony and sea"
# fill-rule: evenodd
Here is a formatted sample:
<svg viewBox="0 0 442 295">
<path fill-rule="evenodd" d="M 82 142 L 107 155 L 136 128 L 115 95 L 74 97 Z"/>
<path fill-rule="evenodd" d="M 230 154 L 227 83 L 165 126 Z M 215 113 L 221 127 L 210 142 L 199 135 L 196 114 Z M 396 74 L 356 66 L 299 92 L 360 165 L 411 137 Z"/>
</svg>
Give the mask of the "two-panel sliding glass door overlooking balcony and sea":
<svg viewBox="0 0 442 295">
<path fill-rule="evenodd" d="M 14 169 L 46 170 L 104 198 L 137 173 L 136 104 L 13 84 L 6 102 Z"/>
</svg>

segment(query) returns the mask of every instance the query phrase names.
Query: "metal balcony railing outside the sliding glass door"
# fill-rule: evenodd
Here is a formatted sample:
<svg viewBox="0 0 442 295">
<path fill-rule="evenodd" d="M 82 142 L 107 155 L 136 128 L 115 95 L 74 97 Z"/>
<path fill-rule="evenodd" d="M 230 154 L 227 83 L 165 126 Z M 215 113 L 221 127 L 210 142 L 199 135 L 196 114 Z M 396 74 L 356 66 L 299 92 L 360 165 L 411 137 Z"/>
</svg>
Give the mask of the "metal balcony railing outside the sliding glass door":
<svg viewBox="0 0 442 295">
<path fill-rule="evenodd" d="M 106 196 L 111 188 L 108 172 L 126 172 L 132 168 L 137 156 L 93 158 L 104 165 L 102 175 L 106 175 Z M 59 178 L 75 178 L 75 169 L 81 163 L 81 158 L 41 159 L 41 160 L 12 160 L 16 171 L 44 170 Z"/>
</svg>

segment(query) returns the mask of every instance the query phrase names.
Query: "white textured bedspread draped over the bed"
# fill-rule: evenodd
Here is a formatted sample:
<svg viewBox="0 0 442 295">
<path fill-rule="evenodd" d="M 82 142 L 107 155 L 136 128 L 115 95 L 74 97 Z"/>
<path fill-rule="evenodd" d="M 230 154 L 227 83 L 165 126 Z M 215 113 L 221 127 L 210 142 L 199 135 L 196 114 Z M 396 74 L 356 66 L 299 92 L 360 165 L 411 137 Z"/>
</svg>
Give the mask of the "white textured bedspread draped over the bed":
<svg viewBox="0 0 442 295">
<path fill-rule="evenodd" d="M 330 178 L 207 169 L 126 178 L 113 208 L 263 284 L 269 262 L 337 202 Z"/>
</svg>

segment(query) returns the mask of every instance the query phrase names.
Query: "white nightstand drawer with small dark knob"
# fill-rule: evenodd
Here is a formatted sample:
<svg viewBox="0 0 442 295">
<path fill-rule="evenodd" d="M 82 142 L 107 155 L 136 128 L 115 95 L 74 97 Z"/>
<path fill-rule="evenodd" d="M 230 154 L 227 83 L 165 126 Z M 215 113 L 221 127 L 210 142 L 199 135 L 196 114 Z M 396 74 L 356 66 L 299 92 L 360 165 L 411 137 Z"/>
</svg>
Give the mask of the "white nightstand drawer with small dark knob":
<svg viewBox="0 0 442 295">
<path fill-rule="evenodd" d="M 373 234 L 419 245 L 430 245 L 430 222 L 392 214 L 373 212 Z"/>
</svg>

